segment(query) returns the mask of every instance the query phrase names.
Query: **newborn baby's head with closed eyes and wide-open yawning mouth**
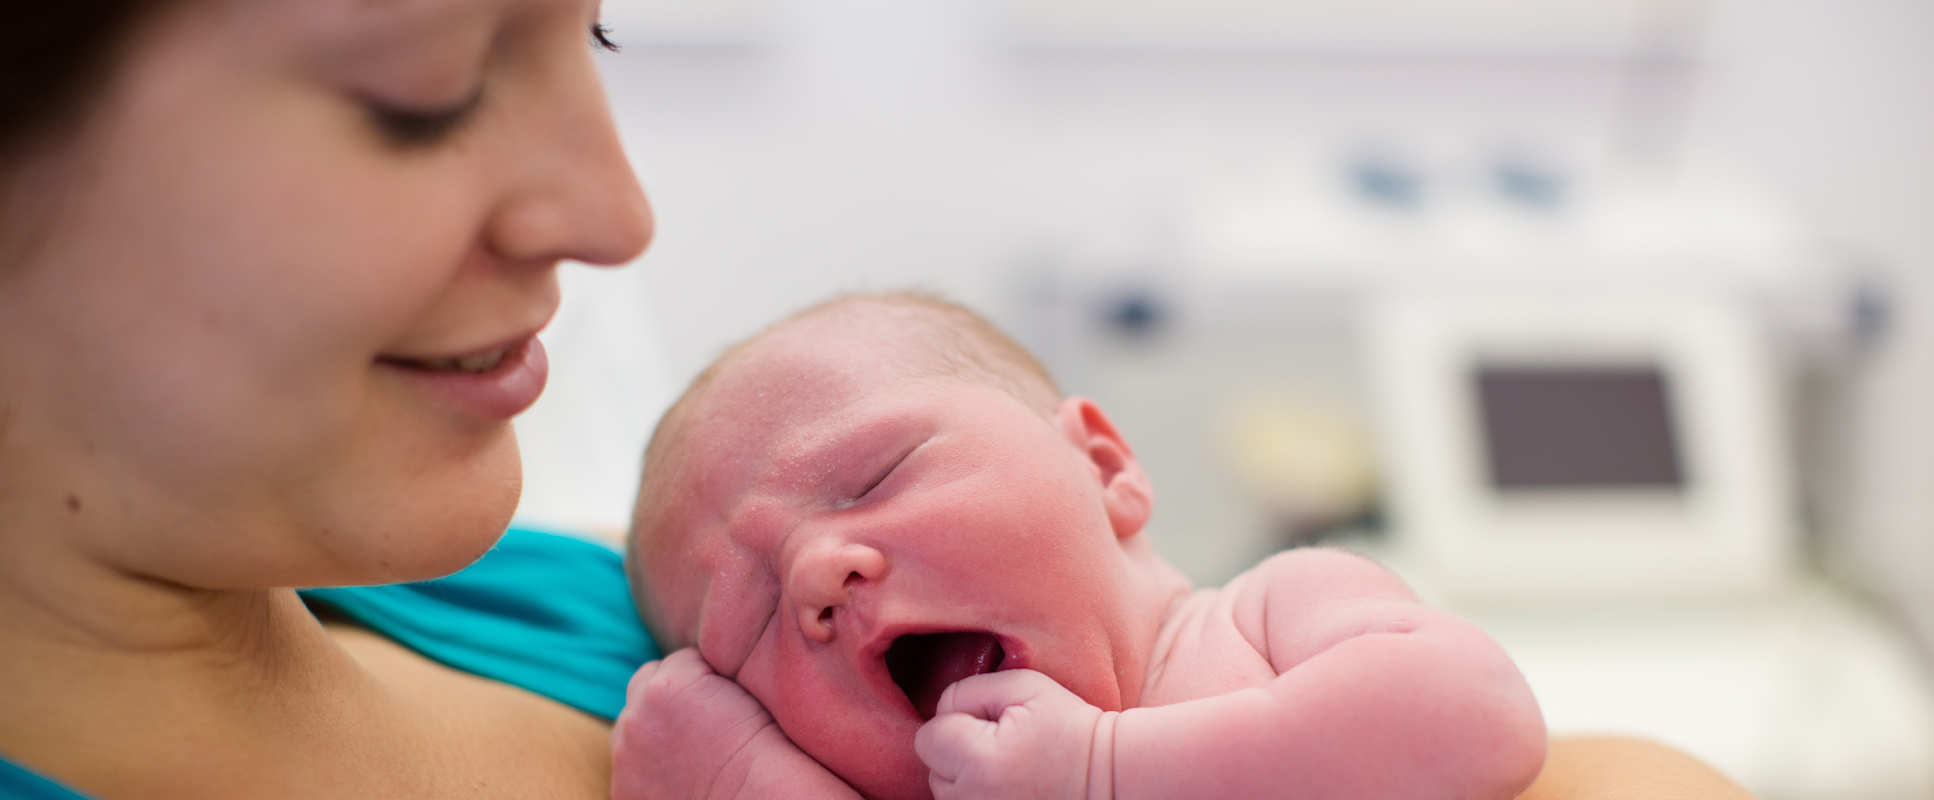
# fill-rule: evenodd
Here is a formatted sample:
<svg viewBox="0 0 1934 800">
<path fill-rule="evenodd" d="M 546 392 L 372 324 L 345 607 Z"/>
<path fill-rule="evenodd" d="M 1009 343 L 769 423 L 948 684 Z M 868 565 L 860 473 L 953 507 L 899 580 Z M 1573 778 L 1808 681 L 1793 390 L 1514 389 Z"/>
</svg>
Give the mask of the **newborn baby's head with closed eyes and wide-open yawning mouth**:
<svg viewBox="0 0 1934 800">
<path fill-rule="evenodd" d="M 640 613 L 808 756 L 924 796 L 913 732 L 967 674 L 1137 700 L 1180 578 L 1112 423 L 1023 348 L 917 294 L 853 296 L 731 348 L 659 421 L 632 518 Z"/>
</svg>

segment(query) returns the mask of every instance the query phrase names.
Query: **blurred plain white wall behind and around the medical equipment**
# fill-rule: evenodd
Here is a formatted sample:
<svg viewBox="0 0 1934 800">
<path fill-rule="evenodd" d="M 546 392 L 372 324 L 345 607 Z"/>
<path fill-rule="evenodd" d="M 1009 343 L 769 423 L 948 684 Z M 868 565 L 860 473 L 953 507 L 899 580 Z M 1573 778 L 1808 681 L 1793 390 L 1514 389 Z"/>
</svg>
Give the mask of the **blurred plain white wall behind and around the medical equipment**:
<svg viewBox="0 0 1934 800">
<path fill-rule="evenodd" d="M 1011 325 L 1019 267 L 1160 265 L 1216 176 L 1379 143 L 1530 147 L 1741 168 L 1903 286 L 1895 338 L 1851 373 L 1853 444 L 1822 458 L 1847 462 L 1839 549 L 1934 640 L 1934 582 L 1917 580 L 1934 566 L 1934 6 L 1714 0 L 1694 62 L 1644 73 L 1603 52 L 1015 50 L 971 0 L 735 8 L 696 37 L 619 23 L 609 91 L 659 236 L 632 271 L 567 278 L 553 388 L 522 423 L 526 518 L 621 528 L 671 392 L 830 292 L 926 286 Z M 1203 489 L 1164 477 L 1168 497 Z M 1157 522 L 1199 524 L 1176 508 Z"/>
</svg>

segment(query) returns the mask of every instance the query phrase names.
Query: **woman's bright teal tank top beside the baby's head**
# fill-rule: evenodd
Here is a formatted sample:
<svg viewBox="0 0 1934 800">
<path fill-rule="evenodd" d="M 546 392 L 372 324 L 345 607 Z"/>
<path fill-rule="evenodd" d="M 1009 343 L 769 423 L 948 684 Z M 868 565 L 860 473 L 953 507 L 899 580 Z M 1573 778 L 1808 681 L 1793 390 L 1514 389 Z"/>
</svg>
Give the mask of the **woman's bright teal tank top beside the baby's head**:
<svg viewBox="0 0 1934 800">
<path fill-rule="evenodd" d="M 422 584 L 304 589 L 333 613 L 464 672 L 518 686 L 605 721 L 658 645 L 638 622 L 609 547 L 511 528 L 484 558 Z M 0 798 L 85 800 L 0 756 Z"/>
</svg>

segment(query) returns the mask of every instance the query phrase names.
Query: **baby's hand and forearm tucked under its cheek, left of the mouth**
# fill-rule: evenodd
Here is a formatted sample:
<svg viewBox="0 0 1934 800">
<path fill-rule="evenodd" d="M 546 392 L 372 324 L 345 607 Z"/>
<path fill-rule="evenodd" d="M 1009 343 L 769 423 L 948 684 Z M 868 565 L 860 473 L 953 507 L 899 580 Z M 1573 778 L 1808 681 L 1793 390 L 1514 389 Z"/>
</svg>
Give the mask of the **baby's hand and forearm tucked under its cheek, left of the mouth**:
<svg viewBox="0 0 1934 800">
<path fill-rule="evenodd" d="M 630 678 L 611 729 L 615 800 L 859 798 L 696 649 Z"/>
</svg>

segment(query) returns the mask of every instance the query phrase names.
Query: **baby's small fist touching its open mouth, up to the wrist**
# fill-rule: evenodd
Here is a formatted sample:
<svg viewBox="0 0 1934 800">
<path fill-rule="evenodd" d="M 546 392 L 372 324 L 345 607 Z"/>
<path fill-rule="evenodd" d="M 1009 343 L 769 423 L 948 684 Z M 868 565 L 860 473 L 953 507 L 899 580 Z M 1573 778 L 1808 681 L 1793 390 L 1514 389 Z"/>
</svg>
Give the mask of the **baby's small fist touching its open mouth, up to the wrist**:
<svg viewBox="0 0 1934 800">
<path fill-rule="evenodd" d="M 1106 798 L 1116 713 L 1031 669 L 948 686 L 913 750 L 936 800 Z"/>
</svg>

